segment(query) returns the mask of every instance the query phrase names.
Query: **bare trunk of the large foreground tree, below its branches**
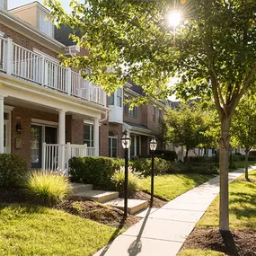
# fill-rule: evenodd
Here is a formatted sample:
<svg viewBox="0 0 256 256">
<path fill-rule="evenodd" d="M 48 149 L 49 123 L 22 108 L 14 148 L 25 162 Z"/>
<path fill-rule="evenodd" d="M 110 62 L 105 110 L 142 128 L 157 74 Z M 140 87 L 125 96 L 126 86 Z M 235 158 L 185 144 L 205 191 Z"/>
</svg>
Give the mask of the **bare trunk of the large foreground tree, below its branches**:
<svg viewBox="0 0 256 256">
<path fill-rule="evenodd" d="M 221 124 L 221 139 L 219 142 L 219 169 L 220 169 L 220 194 L 219 194 L 219 229 L 229 230 L 228 208 L 228 154 L 230 146 L 231 118 L 223 117 Z"/>
</svg>

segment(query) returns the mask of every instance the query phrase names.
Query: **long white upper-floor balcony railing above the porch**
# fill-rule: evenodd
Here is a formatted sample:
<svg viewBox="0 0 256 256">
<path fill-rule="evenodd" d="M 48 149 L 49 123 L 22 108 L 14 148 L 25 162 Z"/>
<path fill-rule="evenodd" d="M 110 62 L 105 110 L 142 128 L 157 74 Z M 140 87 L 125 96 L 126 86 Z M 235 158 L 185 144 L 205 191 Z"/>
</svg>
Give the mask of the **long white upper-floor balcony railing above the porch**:
<svg viewBox="0 0 256 256">
<path fill-rule="evenodd" d="M 0 37 L 0 72 L 106 107 L 106 93 L 100 86 L 85 81 L 70 67 L 3 37 Z"/>
</svg>

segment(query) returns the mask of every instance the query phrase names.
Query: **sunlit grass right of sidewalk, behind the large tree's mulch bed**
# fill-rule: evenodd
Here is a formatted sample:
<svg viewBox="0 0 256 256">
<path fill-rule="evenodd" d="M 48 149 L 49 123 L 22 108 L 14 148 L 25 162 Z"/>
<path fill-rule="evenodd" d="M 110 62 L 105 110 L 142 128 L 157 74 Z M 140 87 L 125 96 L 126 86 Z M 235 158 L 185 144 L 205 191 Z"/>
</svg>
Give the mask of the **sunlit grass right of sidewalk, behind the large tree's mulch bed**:
<svg viewBox="0 0 256 256">
<path fill-rule="evenodd" d="M 229 186 L 230 228 L 237 230 L 251 229 L 256 231 L 256 171 L 249 172 L 250 181 L 243 175 Z M 217 227 L 219 197 L 207 208 L 205 215 L 199 220 L 198 228 Z"/>
</svg>

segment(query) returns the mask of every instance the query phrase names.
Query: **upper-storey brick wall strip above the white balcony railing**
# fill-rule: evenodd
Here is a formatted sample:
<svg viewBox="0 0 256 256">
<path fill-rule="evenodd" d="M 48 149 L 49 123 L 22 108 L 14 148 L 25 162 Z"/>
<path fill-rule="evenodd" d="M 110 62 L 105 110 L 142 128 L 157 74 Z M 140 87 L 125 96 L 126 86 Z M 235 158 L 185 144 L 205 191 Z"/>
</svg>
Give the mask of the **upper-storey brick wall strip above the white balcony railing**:
<svg viewBox="0 0 256 256">
<path fill-rule="evenodd" d="M 17 31 L 13 31 L 11 28 L 6 27 L 4 24 L 0 23 L 0 31 L 4 32 L 9 38 L 13 40 L 14 43 L 26 48 L 26 49 L 39 49 L 42 52 L 45 52 L 51 57 L 57 57 L 58 54 L 42 45 L 38 42 L 31 40 L 30 38 L 25 37 Z"/>
</svg>

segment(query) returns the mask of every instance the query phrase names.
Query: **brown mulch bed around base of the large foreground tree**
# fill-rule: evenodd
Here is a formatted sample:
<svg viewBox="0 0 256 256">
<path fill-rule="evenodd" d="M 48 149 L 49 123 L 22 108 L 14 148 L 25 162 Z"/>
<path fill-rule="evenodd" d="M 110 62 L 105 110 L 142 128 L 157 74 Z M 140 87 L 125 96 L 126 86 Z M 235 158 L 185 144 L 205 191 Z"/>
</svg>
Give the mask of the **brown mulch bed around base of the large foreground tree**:
<svg viewBox="0 0 256 256">
<path fill-rule="evenodd" d="M 256 232 L 250 230 L 220 232 L 218 229 L 195 228 L 182 249 L 213 250 L 230 256 L 255 256 Z"/>
</svg>

